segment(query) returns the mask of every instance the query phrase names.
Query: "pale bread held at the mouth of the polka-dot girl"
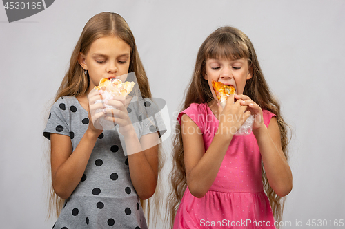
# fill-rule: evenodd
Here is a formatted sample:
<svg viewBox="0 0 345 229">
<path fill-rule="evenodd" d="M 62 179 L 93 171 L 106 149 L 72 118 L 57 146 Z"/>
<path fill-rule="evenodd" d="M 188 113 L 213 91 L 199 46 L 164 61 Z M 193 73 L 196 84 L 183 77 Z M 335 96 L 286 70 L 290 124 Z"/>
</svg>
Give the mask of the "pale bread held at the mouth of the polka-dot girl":
<svg viewBox="0 0 345 229">
<path fill-rule="evenodd" d="M 134 82 L 124 82 L 118 78 L 102 78 L 99 81 L 99 85 L 95 87 L 97 90 L 102 90 L 108 92 L 111 96 L 124 96 L 126 97 L 132 91 L 135 83 Z"/>
</svg>

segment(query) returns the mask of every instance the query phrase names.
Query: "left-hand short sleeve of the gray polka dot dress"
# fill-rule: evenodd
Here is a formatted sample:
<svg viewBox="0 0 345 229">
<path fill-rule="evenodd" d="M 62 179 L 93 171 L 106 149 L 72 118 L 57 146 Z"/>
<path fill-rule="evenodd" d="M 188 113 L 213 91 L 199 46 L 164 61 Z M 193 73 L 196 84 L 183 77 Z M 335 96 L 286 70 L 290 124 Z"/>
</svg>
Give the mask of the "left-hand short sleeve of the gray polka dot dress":
<svg viewBox="0 0 345 229">
<path fill-rule="evenodd" d="M 59 98 L 57 102 L 52 105 L 50 109 L 46 128 L 43 130 L 43 136 L 50 140 L 50 133 L 59 133 L 70 136 L 69 131 L 69 112 L 67 100 L 63 97 Z"/>
</svg>

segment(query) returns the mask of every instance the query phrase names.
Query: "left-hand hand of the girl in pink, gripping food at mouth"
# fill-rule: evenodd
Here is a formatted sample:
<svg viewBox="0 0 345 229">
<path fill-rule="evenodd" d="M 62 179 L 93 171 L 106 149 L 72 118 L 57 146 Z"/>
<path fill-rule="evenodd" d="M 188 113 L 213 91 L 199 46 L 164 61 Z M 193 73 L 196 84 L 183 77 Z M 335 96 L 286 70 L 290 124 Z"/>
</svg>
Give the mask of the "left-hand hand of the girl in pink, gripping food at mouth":
<svg viewBox="0 0 345 229">
<path fill-rule="evenodd" d="M 250 116 L 250 111 L 247 110 L 248 105 L 242 104 L 242 99 L 237 99 L 234 102 L 235 96 L 230 95 L 226 100 L 224 109 L 218 102 L 219 111 L 219 128 L 222 134 L 235 135 L 239 128 L 244 124 L 246 119 Z"/>
</svg>

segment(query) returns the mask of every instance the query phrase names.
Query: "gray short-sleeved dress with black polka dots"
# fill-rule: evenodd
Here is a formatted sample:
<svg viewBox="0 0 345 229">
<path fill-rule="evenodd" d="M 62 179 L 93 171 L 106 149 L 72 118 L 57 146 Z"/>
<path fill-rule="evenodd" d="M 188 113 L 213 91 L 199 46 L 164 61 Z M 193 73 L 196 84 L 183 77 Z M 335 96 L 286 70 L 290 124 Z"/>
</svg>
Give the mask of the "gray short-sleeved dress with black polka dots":
<svg viewBox="0 0 345 229">
<path fill-rule="evenodd" d="M 149 98 L 132 99 L 127 108 L 138 138 L 166 127 L 159 109 Z M 154 115 L 156 114 L 156 115 Z M 50 110 L 43 135 L 70 136 L 74 150 L 88 128 L 88 112 L 77 98 L 59 98 Z M 72 195 L 66 199 L 54 229 L 77 228 L 147 228 L 139 197 L 130 181 L 118 126 L 99 135 L 83 177 Z"/>
</svg>

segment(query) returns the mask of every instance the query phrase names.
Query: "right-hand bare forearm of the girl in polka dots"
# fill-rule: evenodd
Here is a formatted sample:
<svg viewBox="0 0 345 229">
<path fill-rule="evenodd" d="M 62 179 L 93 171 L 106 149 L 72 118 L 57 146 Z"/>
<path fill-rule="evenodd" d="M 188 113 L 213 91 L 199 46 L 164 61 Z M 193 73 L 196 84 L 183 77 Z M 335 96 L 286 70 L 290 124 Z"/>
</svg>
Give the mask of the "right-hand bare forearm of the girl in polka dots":
<svg viewBox="0 0 345 229">
<path fill-rule="evenodd" d="M 156 144 L 151 149 L 143 149 L 134 130 L 125 136 L 125 144 L 132 184 L 140 199 L 148 199 L 155 193 L 157 185 L 157 165 L 156 169 L 152 168 L 155 165 L 150 164 L 148 157 L 156 157 L 153 161 L 158 162 L 158 146 Z M 154 153 L 147 155 L 146 152 L 151 150 Z"/>
</svg>

